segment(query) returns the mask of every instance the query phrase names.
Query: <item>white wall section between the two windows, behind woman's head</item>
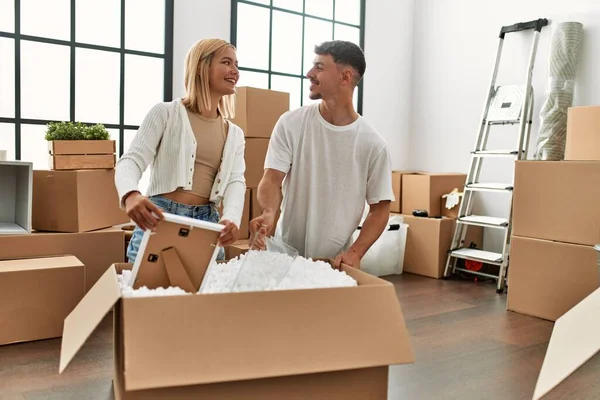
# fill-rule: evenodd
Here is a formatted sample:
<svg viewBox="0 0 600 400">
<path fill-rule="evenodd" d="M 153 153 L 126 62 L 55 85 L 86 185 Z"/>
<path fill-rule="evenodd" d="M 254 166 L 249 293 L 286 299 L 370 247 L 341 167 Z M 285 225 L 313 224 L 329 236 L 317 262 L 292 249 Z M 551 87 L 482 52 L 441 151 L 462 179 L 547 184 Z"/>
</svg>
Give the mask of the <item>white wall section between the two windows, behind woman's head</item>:
<svg viewBox="0 0 600 400">
<path fill-rule="evenodd" d="M 177 0 L 173 32 L 173 98 L 185 95 L 183 63 L 188 49 L 200 39 L 230 40 L 231 1 Z"/>
</svg>

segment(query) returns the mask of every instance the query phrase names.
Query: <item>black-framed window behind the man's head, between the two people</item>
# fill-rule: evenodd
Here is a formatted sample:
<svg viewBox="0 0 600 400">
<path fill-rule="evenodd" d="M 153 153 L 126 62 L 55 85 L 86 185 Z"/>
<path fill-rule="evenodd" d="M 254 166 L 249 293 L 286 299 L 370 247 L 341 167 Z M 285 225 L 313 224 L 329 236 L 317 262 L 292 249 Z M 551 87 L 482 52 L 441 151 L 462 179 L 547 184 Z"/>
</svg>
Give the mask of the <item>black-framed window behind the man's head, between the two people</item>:
<svg viewBox="0 0 600 400">
<path fill-rule="evenodd" d="M 311 102 L 305 74 L 314 47 L 348 40 L 364 49 L 365 0 L 232 0 L 231 42 L 238 50 L 238 86 L 290 93 L 290 108 Z M 363 83 L 354 92 L 362 113 Z"/>
</svg>

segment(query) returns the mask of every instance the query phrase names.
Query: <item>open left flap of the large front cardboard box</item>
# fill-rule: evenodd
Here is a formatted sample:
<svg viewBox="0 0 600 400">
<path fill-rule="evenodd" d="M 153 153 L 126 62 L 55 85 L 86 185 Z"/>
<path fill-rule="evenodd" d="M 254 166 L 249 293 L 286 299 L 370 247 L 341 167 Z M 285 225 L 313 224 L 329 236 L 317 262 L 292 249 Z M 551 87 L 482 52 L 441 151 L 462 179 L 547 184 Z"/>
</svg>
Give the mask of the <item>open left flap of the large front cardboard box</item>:
<svg viewBox="0 0 600 400">
<path fill-rule="evenodd" d="M 60 349 L 59 373 L 62 373 L 75 354 L 94 332 L 104 316 L 121 297 L 117 272 L 110 267 L 96 282 L 77 307 L 65 318 Z"/>
</svg>

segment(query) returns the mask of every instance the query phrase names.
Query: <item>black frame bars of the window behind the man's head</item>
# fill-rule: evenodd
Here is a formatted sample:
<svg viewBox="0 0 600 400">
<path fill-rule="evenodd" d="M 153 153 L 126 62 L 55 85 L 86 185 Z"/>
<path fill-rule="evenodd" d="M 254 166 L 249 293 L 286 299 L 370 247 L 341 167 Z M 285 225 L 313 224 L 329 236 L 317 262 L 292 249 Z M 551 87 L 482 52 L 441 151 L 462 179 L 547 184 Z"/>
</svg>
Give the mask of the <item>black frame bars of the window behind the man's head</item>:
<svg viewBox="0 0 600 400">
<path fill-rule="evenodd" d="M 237 6 L 238 4 L 246 4 L 246 5 L 250 5 L 250 6 L 256 6 L 256 7 L 260 7 L 260 8 L 265 8 L 269 10 L 269 69 L 260 69 L 260 68 L 248 68 L 248 67 L 244 67 L 243 66 L 243 60 L 242 62 L 240 62 L 240 67 L 239 70 L 241 72 L 243 71 L 248 71 L 248 72 L 258 72 L 258 73 L 266 73 L 268 76 L 268 88 L 271 89 L 271 77 L 273 75 L 277 75 L 277 76 L 284 76 L 284 77 L 291 77 L 291 78 L 301 78 L 301 83 L 300 83 L 300 106 L 305 105 L 304 104 L 304 87 L 307 84 L 306 83 L 306 76 L 305 74 L 308 71 L 303 71 L 304 70 L 304 39 L 305 39 L 305 32 L 304 32 L 304 26 L 305 26 L 305 21 L 306 18 L 312 18 L 312 19 L 317 19 L 320 21 L 325 21 L 325 22 L 331 22 L 332 24 L 332 37 L 334 36 L 334 32 L 335 32 L 335 24 L 339 24 L 339 25 L 344 25 L 344 26 L 349 26 L 352 28 L 357 28 L 359 30 L 359 46 L 360 48 L 364 51 L 365 50 L 365 3 L 366 0 L 360 0 L 360 23 L 359 25 L 355 25 L 355 24 L 350 24 L 347 22 L 343 22 L 343 21 L 337 21 L 335 19 L 335 2 L 336 0 L 333 0 L 333 18 L 329 19 L 329 18 L 324 18 L 324 17 L 319 17 L 319 16 L 315 16 L 312 14 L 307 14 L 306 13 L 306 0 L 302 0 L 302 12 L 300 11 L 294 11 L 294 10 L 288 10 L 285 8 L 281 8 L 281 7 L 275 7 L 273 6 L 273 0 L 269 0 L 269 5 L 266 4 L 260 4 L 260 3 L 254 3 L 252 1 L 248 1 L 248 0 L 231 0 L 231 32 L 230 32 L 230 42 L 231 44 L 233 44 L 234 46 L 237 46 L 237 33 L 238 33 L 238 27 L 237 27 L 237 17 L 238 17 L 238 12 L 237 12 Z M 284 72 L 279 72 L 279 71 L 273 71 L 272 70 L 272 61 L 273 61 L 273 55 L 272 55 L 272 45 L 273 45 L 273 11 L 280 11 L 280 12 L 286 12 L 286 13 L 290 13 L 293 15 L 298 15 L 302 17 L 302 55 L 300 58 L 300 62 L 301 62 L 301 74 L 290 74 L 290 73 L 284 73 Z M 361 79 L 360 83 L 358 84 L 357 90 L 358 90 L 358 95 L 357 95 L 357 110 L 356 112 L 362 115 L 362 111 L 363 111 L 363 87 L 364 87 L 364 77 L 363 79 Z"/>
</svg>

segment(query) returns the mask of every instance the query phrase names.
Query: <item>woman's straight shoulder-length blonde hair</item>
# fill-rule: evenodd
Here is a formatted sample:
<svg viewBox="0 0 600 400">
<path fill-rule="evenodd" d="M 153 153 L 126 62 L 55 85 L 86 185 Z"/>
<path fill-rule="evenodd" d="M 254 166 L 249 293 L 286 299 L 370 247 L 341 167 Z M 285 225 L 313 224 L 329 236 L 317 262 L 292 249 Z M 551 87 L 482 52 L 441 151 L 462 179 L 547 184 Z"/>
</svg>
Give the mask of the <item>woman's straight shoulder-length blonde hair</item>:
<svg viewBox="0 0 600 400">
<path fill-rule="evenodd" d="M 235 47 L 223 39 L 197 41 L 185 56 L 185 91 L 183 105 L 194 112 L 212 109 L 208 70 L 214 55 L 225 47 Z M 217 110 L 225 119 L 235 116 L 235 94 L 223 96 Z"/>
</svg>

